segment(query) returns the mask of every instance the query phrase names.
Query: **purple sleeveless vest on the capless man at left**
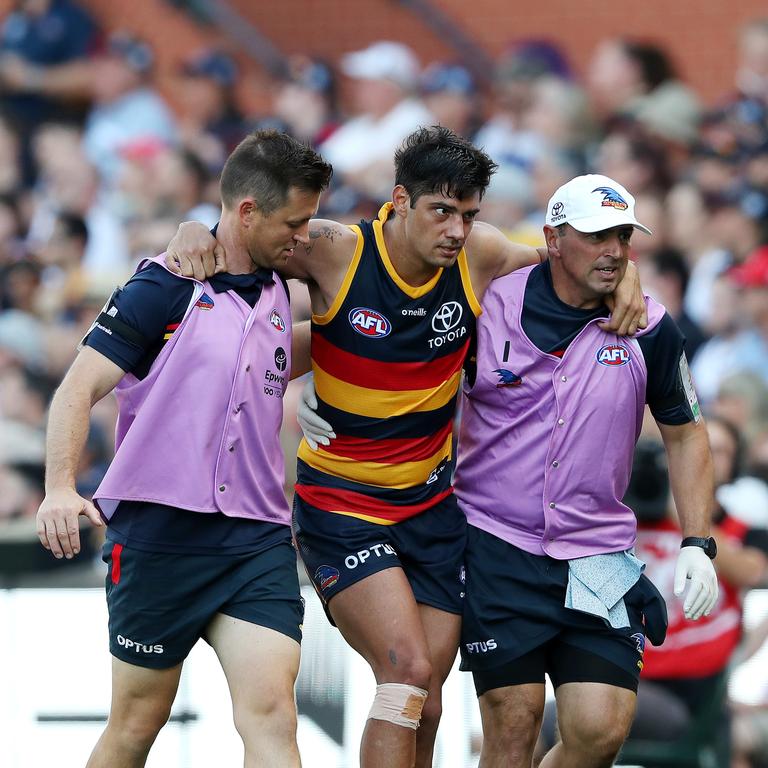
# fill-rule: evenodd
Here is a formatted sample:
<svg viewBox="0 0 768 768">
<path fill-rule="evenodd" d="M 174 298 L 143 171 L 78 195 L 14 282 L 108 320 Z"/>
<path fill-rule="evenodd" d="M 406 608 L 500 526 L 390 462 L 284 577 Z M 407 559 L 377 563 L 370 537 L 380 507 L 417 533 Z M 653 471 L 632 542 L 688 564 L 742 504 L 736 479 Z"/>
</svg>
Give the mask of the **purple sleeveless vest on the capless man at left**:
<svg viewBox="0 0 768 768">
<path fill-rule="evenodd" d="M 290 525 L 279 439 L 291 371 L 285 288 L 264 285 L 251 308 L 193 282 L 146 378 L 126 374 L 115 389 L 116 453 L 94 499 L 107 518 L 130 500 Z"/>
</svg>

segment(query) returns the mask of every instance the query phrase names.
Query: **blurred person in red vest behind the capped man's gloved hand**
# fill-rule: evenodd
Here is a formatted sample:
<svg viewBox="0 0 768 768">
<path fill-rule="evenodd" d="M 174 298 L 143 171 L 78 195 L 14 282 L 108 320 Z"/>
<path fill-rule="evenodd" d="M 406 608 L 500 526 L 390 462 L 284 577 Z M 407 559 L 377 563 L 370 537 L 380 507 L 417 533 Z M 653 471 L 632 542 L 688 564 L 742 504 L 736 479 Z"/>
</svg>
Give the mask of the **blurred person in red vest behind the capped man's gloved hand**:
<svg viewBox="0 0 768 768">
<path fill-rule="evenodd" d="M 728 422 L 707 422 L 713 450 L 715 486 L 733 482 L 738 474 L 739 435 Z M 645 461 L 643 451 L 647 453 Z M 726 759 L 729 734 L 724 687 L 720 682 L 741 638 L 740 591 L 764 583 L 766 552 L 745 543 L 749 527 L 727 516 L 722 508 L 713 517 L 718 554 L 715 567 L 720 596 L 709 616 L 693 624 L 683 617 L 682 604 L 673 594 L 675 559 L 680 531 L 673 510 L 668 510 L 666 462 L 660 444 L 646 443 L 636 453 L 636 469 L 627 503 L 639 520 L 637 556 L 646 562 L 646 574 L 667 600 L 669 629 L 660 647 L 646 645 L 638 689 L 638 709 L 629 740 L 679 738 L 691 718 L 707 707 L 719 690 L 723 698 L 720 718 L 721 760 Z M 649 477 L 657 492 L 648 494 Z M 722 763 L 727 765 L 726 762 Z"/>
</svg>

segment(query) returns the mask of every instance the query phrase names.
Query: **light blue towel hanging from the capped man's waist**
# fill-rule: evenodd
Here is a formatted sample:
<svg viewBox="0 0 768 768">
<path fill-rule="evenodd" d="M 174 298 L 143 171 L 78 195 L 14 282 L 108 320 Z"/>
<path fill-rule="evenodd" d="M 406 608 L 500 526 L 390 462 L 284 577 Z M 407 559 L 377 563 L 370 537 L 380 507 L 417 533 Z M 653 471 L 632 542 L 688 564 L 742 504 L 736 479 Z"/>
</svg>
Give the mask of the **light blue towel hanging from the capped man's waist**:
<svg viewBox="0 0 768 768">
<path fill-rule="evenodd" d="M 630 551 L 569 560 L 565 607 L 599 616 L 614 629 L 628 627 L 623 598 L 644 569 Z"/>
</svg>

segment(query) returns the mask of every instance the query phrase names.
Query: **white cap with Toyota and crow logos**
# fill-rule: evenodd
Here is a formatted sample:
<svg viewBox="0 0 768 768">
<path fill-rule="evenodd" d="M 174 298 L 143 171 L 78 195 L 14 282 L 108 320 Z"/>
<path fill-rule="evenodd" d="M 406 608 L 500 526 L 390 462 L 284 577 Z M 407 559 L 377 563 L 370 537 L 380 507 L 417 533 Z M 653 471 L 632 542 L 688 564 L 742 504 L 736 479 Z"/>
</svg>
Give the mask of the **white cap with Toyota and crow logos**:
<svg viewBox="0 0 768 768">
<path fill-rule="evenodd" d="M 631 224 L 653 234 L 635 218 L 635 198 L 617 181 L 600 174 L 577 176 L 550 198 L 546 223 L 570 224 L 579 232 L 600 232 Z"/>
</svg>

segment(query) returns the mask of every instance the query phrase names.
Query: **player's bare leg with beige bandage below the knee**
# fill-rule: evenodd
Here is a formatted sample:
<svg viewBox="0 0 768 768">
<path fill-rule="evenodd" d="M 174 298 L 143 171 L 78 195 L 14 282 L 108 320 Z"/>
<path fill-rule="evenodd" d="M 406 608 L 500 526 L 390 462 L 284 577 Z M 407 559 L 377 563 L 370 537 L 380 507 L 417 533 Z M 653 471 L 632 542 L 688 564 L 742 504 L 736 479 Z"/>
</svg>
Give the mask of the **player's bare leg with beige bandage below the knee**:
<svg viewBox="0 0 768 768">
<path fill-rule="evenodd" d="M 370 664 L 376 701 L 360 746 L 361 768 L 412 768 L 416 728 L 432 677 L 419 607 L 399 567 L 378 571 L 329 602 L 344 639 Z M 383 687 L 388 683 L 409 688 Z"/>
</svg>

